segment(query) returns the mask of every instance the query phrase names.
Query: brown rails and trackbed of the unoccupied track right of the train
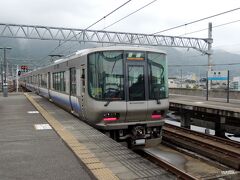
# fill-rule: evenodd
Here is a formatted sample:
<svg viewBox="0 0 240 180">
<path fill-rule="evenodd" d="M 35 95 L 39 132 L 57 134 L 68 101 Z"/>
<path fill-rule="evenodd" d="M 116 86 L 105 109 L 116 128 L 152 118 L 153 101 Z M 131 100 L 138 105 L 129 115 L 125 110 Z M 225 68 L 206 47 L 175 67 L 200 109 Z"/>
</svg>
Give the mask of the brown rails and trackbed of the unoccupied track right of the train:
<svg viewBox="0 0 240 180">
<path fill-rule="evenodd" d="M 230 147 L 229 145 L 208 140 L 208 136 L 198 137 L 188 132 L 180 132 L 180 130 L 164 127 L 163 140 L 173 144 L 177 144 L 185 149 L 197 152 L 210 159 L 219 161 L 227 166 L 240 169 L 240 149 Z M 206 141 L 206 142 L 205 142 Z"/>
</svg>

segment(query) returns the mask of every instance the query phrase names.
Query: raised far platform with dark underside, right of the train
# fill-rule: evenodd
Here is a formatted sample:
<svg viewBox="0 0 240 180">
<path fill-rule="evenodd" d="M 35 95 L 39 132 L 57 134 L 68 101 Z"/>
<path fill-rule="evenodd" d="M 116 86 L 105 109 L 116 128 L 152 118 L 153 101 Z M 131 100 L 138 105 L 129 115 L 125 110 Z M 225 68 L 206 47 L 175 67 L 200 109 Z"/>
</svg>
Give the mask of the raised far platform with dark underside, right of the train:
<svg viewBox="0 0 240 180">
<path fill-rule="evenodd" d="M 215 130 L 217 136 L 225 136 L 225 132 L 239 134 L 240 109 L 239 100 L 230 103 L 221 98 L 187 96 L 170 94 L 170 110 L 179 112 L 181 126 L 190 128 L 197 125 Z"/>
</svg>

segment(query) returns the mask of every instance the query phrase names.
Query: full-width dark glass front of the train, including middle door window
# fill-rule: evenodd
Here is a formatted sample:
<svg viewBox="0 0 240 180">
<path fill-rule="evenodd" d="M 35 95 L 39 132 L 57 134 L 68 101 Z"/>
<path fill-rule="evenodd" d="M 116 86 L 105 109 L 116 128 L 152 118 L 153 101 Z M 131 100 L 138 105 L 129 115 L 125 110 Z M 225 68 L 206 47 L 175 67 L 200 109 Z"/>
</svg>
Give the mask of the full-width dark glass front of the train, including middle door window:
<svg viewBox="0 0 240 180">
<path fill-rule="evenodd" d="M 108 103 L 148 99 L 160 103 L 160 99 L 168 95 L 166 66 L 165 54 L 156 52 L 100 51 L 89 54 L 89 95 Z"/>
</svg>

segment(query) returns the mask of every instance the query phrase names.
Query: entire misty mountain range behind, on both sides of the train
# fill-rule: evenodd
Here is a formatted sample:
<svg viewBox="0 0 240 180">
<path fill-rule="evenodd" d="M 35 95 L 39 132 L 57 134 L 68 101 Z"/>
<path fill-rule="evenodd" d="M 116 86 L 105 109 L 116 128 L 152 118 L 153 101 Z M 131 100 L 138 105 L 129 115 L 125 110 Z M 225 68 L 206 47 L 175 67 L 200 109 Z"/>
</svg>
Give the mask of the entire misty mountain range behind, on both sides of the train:
<svg viewBox="0 0 240 180">
<path fill-rule="evenodd" d="M 62 42 L 60 42 L 62 43 Z M 48 54 L 59 45 L 57 41 L 48 40 L 26 40 L 0 38 L 0 47 L 12 47 L 7 51 L 10 64 L 29 65 L 36 68 L 51 63 Z M 89 43 L 64 43 L 54 54 L 68 55 L 74 51 L 102 46 L 102 44 Z M 208 57 L 193 49 L 159 47 L 167 53 L 169 76 L 186 76 L 195 74 L 198 77 L 206 77 L 208 70 Z M 0 57 L 3 53 L 0 52 Z M 240 76 L 240 54 L 232 54 L 223 50 L 213 51 L 213 70 L 230 70 L 230 76 Z M 217 65 L 225 64 L 225 65 Z M 234 64 L 234 65 L 226 65 Z"/>
</svg>

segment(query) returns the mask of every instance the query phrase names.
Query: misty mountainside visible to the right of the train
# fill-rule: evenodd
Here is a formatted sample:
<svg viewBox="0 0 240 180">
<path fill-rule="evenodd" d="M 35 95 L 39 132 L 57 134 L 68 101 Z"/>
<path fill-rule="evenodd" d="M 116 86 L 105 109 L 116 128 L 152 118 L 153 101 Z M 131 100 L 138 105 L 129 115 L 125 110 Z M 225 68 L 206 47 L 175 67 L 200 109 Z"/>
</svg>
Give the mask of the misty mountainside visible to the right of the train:
<svg viewBox="0 0 240 180">
<path fill-rule="evenodd" d="M 193 49 L 161 48 L 167 52 L 169 76 L 180 77 L 195 74 L 206 77 L 208 71 L 208 56 Z M 223 50 L 213 50 L 212 70 L 229 70 L 230 77 L 240 76 L 240 54 Z"/>
</svg>

